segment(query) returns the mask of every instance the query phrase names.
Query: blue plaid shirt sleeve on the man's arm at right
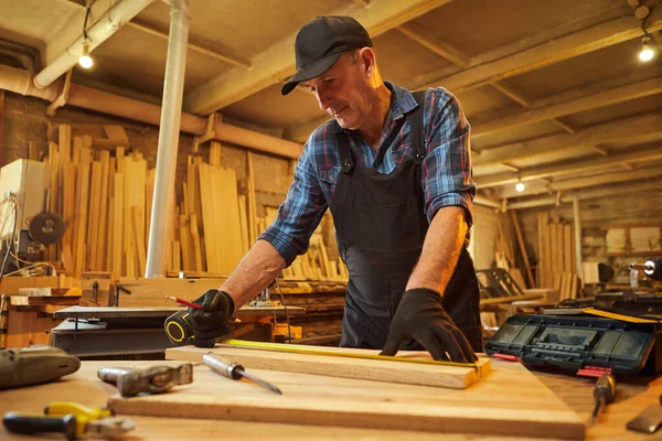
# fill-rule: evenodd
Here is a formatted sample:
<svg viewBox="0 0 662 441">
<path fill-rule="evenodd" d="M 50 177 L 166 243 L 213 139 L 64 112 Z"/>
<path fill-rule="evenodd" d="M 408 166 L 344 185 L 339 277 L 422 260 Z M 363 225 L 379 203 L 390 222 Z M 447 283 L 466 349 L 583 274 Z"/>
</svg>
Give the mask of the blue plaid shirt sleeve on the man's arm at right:
<svg viewBox="0 0 662 441">
<path fill-rule="evenodd" d="M 461 206 L 471 227 L 476 184 L 471 171 L 471 127 L 460 101 L 442 88 L 428 92 L 424 127 L 428 154 L 423 162 L 426 215 L 433 220 L 445 206 Z M 429 130 L 429 131 L 428 131 Z"/>
</svg>

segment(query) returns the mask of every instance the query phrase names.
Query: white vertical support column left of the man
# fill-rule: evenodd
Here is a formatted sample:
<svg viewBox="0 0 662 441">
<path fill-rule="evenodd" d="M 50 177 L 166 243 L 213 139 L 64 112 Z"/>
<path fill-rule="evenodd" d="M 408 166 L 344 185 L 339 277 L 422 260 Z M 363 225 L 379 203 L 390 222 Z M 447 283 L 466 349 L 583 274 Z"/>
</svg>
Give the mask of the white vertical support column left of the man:
<svg viewBox="0 0 662 441">
<path fill-rule="evenodd" d="M 170 36 L 163 82 L 163 104 L 147 247 L 146 278 L 166 277 L 168 270 L 166 247 L 171 227 L 172 204 L 174 203 L 174 175 L 182 116 L 189 22 L 189 0 L 171 0 Z"/>
</svg>

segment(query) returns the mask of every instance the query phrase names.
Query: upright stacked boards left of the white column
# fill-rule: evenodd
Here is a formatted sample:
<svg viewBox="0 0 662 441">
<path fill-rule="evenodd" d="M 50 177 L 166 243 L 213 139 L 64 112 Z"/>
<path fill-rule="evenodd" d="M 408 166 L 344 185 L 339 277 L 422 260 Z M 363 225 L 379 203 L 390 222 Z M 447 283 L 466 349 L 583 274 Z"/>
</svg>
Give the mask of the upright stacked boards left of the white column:
<svg viewBox="0 0 662 441">
<path fill-rule="evenodd" d="M 56 130 L 57 142 L 50 142 L 44 159 L 47 204 L 63 217 L 66 232 L 45 258 L 60 257 L 65 273 L 77 278 L 84 271 L 143 273 L 153 170 L 148 171 L 141 152 L 125 154 L 128 137 L 120 126 L 62 125 Z M 96 130 L 113 138 L 94 138 Z"/>
</svg>

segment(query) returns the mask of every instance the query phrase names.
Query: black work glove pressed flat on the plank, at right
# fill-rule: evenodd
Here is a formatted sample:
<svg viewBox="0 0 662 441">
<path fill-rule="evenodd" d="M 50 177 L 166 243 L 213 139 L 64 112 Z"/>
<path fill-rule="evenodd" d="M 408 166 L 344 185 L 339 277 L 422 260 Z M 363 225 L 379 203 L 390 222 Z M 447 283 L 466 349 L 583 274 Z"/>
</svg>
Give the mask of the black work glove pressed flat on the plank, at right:
<svg viewBox="0 0 662 441">
<path fill-rule="evenodd" d="M 478 359 L 462 331 L 444 310 L 441 295 L 426 288 L 405 291 L 380 355 L 397 354 L 402 341 L 407 338 L 420 343 L 435 359 L 448 361 L 448 356 L 460 363 Z"/>
</svg>

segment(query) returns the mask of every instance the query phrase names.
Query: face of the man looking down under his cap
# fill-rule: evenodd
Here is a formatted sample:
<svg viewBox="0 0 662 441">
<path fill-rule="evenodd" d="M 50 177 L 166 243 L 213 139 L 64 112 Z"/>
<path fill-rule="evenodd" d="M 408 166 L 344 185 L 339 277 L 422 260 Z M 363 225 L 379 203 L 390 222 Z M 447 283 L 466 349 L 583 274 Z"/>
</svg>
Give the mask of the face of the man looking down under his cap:
<svg viewBox="0 0 662 441">
<path fill-rule="evenodd" d="M 320 109 L 343 129 L 360 129 L 372 109 L 363 67 L 360 57 L 352 61 L 345 53 L 322 75 L 301 83 L 314 94 Z"/>
</svg>

